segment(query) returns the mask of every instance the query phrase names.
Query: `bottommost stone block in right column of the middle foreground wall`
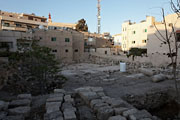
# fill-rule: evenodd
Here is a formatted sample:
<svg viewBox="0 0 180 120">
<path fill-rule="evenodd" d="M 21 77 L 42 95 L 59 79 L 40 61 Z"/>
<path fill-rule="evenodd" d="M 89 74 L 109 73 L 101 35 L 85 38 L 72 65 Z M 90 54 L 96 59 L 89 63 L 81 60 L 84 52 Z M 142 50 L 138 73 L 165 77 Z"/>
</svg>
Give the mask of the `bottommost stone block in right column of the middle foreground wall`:
<svg viewBox="0 0 180 120">
<path fill-rule="evenodd" d="M 64 120 L 77 120 L 74 110 L 65 109 L 63 113 L 64 113 Z"/>
</svg>

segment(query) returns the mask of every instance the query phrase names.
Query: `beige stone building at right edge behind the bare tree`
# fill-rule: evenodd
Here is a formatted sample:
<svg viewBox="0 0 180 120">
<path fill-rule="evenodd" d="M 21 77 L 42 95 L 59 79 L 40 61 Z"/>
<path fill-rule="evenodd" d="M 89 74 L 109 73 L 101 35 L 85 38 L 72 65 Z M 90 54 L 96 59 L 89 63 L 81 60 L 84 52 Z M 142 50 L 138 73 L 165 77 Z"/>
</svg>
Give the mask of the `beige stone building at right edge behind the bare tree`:
<svg viewBox="0 0 180 120">
<path fill-rule="evenodd" d="M 175 32 L 177 34 L 178 44 L 180 47 L 180 19 L 178 18 L 177 14 L 169 14 L 165 16 L 167 29 L 168 29 L 168 36 L 170 35 L 172 31 L 172 27 L 174 26 Z M 162 36 L 166 36 L 165 33 L 165 26 L 162 22 L 156 23 L 155 26 L 159 30 L 159 32 L 162 34 Z M 150 26 L 148 28 L 148 43 L 147 43 L 147 54 L 149 57 L 154 59 L 157 64 L 166 64 L 170 62 L 170 58 L 168 58 L 167 54 L 169 53 L 169 48 L 167 43 L 163 43 L 162 37 L 158 33 L 156 27 L 154 25 Z M 173 35 L 172 35 L 173 36 Z M 161 40 L 159 40 L 159 38 Z M 171 37 L 171 46 L 172 50 L 175 49 L 174 47 L 174 36 Z M 175 51 L 174 51 L 175 52 Z M 180 49 L 179 49 L 180 53 Z M 179 54 L 178 54 L 179 56 Z M 180 57 L 180 56 L 179 56 Z M 180 59 L 180 58 L 179 58 Z"/>
</svg>

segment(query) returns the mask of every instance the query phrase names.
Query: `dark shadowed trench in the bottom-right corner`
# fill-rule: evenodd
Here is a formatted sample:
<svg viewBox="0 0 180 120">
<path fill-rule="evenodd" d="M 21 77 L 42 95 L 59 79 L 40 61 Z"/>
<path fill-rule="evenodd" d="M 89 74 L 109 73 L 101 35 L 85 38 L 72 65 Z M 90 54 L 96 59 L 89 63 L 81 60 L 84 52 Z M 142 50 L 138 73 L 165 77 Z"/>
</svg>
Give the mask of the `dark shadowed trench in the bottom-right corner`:
<svg viewBox="0 0 180 120">
<path fill-rule="evenodd" d="M 180 104 L 169 91 L 126 96 L 124 99 L 139 110 L 145 109 L 162 120 L 180 120 Z"/>
</svg>

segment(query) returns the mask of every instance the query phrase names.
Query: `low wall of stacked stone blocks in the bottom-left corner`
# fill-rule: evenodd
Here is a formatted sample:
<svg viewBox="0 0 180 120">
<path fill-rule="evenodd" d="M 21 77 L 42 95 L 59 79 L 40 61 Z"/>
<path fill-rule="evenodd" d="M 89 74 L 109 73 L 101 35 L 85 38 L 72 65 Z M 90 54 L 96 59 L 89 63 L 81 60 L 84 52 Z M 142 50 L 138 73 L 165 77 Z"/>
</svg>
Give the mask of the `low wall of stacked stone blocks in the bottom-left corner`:
<svg viewBox="0 0 180 120">
<path fill-rule="evenodd" d="M 25 120 L 30 116 L 31 94 L 20 94 L 11 102 L 0 101 L 0 120 Z"/>
</svg>

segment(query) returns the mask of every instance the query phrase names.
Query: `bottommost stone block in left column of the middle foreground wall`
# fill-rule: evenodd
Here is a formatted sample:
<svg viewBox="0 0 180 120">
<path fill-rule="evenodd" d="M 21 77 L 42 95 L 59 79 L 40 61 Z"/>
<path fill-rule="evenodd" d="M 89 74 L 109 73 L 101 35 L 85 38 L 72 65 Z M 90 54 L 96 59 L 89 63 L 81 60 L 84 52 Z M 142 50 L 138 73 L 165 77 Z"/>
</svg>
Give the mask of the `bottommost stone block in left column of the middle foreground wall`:
<svg viewBox="0 0 180 120">
<path fill-rule="evenodd" d="M 63 114 L 60 111 L 51 112 L 44 115 L 44 120 L 54 120 L 57 118 L 61 118 L 63 120 Z"/>
</svg>

